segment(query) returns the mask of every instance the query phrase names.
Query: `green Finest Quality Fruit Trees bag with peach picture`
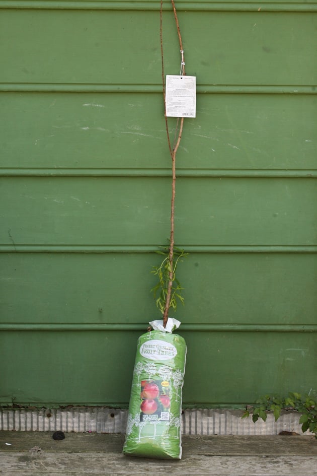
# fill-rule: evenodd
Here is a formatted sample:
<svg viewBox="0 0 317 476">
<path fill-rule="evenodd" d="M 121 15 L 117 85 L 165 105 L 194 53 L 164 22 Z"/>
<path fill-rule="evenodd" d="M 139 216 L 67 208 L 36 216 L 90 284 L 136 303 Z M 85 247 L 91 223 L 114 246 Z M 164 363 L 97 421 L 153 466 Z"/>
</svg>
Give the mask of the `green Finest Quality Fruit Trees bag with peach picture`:
<svg viewBox="0 0 317 476">
<path fill-rule="evenodd" d="M 176 319 L 150 322 L 137 342 L 123 453 L 181 459 L 182 387 L 186 344 Z"/>
</svg>

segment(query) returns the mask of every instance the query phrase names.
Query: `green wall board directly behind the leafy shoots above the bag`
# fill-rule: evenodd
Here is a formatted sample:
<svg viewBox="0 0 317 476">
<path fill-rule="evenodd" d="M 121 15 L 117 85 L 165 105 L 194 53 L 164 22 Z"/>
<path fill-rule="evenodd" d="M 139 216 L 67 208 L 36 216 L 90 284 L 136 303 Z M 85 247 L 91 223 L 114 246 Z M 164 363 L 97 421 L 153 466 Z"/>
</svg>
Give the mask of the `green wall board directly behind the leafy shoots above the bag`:
<svg viewBox="0 0 317 476">
<path fill-rule="evenodd" d="M 0 261 L 2 329 L 126 331 L 161 318 L 150 293 L 155 253 L 1 253 Z M 311 331 L 316 268 L 317 254 L 192 252 L 179 266 L 185 306 L 176 317 L 186 333 Z"/>
</svg>

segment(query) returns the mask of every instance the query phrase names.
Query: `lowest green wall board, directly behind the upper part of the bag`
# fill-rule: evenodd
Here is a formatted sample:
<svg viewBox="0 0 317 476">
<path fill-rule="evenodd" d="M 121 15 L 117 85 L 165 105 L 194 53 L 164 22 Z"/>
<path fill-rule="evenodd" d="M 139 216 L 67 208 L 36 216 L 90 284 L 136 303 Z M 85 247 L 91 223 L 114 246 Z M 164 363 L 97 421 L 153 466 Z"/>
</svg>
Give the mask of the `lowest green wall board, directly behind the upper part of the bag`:
<svg viewBox="0 0 317 476">
<path fill-rule="evenodd" d="M 3 331 L 1 402 L 126 406 L 138 335 Z M 186 342 L 184 407 L 243 407 L 265 393 L 311 388 L 315 334 L 193 332 Z"/>
</svg>

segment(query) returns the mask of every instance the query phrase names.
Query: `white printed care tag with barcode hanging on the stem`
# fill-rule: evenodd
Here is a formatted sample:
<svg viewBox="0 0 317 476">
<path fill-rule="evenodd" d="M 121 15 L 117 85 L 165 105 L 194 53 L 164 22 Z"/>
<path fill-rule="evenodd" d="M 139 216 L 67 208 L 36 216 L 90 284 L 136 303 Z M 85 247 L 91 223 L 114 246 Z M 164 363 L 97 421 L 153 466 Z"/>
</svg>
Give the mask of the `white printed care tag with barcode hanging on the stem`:
<svg viewBox="0 0 317 476">
<path fill-rule="evenodd" d="M 196 76 L 166 76 L 167 117 L 196 117 Z"/>
</svg>

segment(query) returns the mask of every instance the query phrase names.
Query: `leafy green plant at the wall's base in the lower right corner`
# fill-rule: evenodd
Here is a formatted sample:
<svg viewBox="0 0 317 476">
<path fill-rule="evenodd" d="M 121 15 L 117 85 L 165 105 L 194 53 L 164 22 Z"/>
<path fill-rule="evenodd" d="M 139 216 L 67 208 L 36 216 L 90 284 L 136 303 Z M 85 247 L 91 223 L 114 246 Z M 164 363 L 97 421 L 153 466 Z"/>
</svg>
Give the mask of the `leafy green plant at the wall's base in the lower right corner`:
<svg viewBox="0 0 317 476">
<path fill-rule="evenodd" d="M 317 439 L 317 402 L 308 394 L 303 397 L 300 393 L 290 392 L 288 397 L 278 395 L 264 395 L 256 401 L 257 406 L 247 407 L 242 418 L 247 418 L 252 414 L 252 421 L 256 423 L 259 418 L 264 422 L 267 419 L 268 411 L 273 411 L 275 421 L 281 416 L 282 410 L 296 410 L 301 413 L 299 423 L 303 433 L 309 430 L 314 433 Z"/>
</svg>

